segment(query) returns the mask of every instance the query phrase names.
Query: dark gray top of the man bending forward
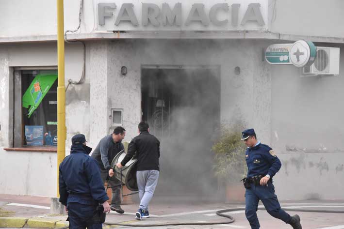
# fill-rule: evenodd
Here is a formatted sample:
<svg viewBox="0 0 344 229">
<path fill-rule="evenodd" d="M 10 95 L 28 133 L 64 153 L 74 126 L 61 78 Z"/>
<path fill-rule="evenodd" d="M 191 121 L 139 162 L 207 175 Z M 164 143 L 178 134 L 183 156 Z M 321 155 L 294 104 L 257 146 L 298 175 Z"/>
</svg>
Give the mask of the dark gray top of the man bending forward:
<svg viewBox="0 0 344 229">
<path fill-rule="evenodd" d="M 96 159 L 100 169 L 109 171 L 115 155 L 122 150 L 124 150 L 123 143 L 114 142 L 112 135 L 107 135 L 100 140 L 92 153 L 92 157 Z"/>
</svg>

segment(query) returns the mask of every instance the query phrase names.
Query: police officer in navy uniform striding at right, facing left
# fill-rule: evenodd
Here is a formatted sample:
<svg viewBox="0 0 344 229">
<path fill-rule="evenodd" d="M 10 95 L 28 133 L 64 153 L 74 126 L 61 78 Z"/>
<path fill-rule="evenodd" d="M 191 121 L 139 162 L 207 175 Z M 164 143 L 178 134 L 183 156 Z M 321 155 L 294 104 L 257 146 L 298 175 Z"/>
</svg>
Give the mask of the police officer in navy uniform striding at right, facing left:
<svg viewBox="0 0 344 229">
<path fill-rule="evenodd" d="M 272 178 L 281 168 L 281 162 L 276 153 L 267 145 L 257 140 L 254 129 L 247 129 L 242 132 L 242 140 L 247 146 L 246 164 L 248 168 L 247 178 L 244 179 L 246 187 L 246 218 L 251 229 L 260 229 L 257 217 L 258 202 L 262 201 L 266 211 L 290 224 L 293 229 L 302 229 L 300 217 L 295 214 L 290 216 L 283 211 L 275 195 L 275 187 Z"/>
</svg>

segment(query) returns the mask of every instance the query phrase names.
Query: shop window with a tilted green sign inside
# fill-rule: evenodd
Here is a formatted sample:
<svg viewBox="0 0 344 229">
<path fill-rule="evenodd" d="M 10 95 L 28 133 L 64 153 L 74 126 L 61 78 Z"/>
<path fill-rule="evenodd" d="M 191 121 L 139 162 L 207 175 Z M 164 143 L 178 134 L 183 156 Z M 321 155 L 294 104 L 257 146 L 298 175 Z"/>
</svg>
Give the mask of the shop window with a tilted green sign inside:
<svg viewBox="0 0 344 229">
<path fill-rule="evenodd" d="M 57 146 L 57 70 L 14 75 L 14 147 Z"/>
</svg>

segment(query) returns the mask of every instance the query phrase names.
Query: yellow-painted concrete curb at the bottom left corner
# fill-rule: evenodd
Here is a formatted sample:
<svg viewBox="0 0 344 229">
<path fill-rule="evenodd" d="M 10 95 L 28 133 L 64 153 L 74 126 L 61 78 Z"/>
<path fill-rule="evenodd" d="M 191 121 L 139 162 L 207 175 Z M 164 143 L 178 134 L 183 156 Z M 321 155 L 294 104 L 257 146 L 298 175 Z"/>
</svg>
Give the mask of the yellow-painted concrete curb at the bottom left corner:
<svg viewBox="0 0 344 229">
<path fill-rule="evenodd" d="M 47 228 L 61 229 L 68 227 L 69 222 L 61 219 L 0 217 L 0 228 Z"/>
</svg>

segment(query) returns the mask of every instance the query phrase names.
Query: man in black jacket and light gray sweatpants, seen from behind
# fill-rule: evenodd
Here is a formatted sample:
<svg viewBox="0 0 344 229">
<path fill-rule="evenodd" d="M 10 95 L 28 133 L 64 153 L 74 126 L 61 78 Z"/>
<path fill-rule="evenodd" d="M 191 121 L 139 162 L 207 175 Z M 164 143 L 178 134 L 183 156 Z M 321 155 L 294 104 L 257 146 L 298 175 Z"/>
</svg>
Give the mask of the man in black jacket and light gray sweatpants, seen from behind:
<svg viewBox="0 0 344 229">
<path fill-rule="evenodd" d="M 142 217 L 149 217 L 148 204 L 158 184 L 160 142 L 149 134 L 146 122 L 140 122 L 138 127 L 140 135 L 131 140 L 127 155 L 116 166 L 118 168 L 125 166 L 136 152 L 136 179 L 140 197 L 140 208 L 136 212 L 136 219 L 141 220 Z"/>
</svg>

